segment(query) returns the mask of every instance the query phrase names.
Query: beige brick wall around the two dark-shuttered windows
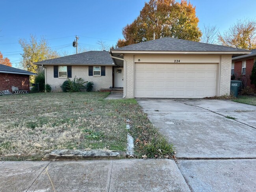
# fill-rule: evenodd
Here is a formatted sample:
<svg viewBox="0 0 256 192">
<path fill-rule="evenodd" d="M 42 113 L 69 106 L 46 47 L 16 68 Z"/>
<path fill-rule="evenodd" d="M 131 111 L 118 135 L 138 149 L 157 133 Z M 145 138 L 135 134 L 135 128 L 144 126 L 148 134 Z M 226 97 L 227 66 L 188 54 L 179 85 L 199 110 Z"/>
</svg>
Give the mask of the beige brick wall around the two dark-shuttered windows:
<svg viewBox="0 0 256 192">
<path fill-rule="evenodd" d="M 54 78 L 53 74 L 53 65 L 46 66 L 46 83 L 51 85 L 52 91 L 60 92 L 60 85 L 62 85 L 67 78 Z M 106 66 L 106 76 L 94 77 L 88 75 L 88 66 L 73 65 L 72 78 L 70 78 L 70 80 L 73 80 L 75 76 L 82 78 L 84 81 L 93 81 L 93 91 L 112 86 L 112 66 Z"/>
</svg>

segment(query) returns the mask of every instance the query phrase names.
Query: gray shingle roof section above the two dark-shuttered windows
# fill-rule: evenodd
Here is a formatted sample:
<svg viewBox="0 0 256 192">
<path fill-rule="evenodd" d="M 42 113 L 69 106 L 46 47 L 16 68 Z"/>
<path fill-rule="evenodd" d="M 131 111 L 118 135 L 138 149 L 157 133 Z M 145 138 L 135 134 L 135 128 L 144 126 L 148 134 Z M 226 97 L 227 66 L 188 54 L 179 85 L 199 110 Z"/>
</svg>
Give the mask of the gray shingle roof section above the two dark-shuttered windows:
<svg viewBox="0 0 256 192">
<path fill-rule="evenodd" d="M 84 64 L 84 65 L 113 65 L 108 51 L 88 51 L 80 54 L 68 55 L 56 59 L 49 59 L 34 63 L 40 64 Z"/>
</svg>

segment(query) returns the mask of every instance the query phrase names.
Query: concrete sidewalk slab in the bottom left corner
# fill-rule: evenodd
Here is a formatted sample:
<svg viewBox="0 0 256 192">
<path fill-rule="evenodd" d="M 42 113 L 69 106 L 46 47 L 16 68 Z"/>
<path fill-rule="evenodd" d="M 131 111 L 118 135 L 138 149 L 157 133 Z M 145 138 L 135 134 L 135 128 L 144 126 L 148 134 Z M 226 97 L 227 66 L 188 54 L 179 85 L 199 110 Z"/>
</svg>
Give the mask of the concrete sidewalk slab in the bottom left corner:
<svg viewBox="0 0 256 192">
<path fill-rule="evenodd" d="M 26 191 L 49 161 L 6 161 L 1 164 L 0 192 Z"/>
</svg>

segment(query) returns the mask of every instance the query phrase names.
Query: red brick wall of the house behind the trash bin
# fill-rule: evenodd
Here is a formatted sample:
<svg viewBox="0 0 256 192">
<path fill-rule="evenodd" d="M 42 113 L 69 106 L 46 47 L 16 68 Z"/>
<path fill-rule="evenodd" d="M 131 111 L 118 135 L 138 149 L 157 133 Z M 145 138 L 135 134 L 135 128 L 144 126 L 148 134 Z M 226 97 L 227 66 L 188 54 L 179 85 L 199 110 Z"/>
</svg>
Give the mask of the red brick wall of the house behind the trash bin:
<svg viewBox="0 0 256 192">
<path fill-rule="evenodd" d="M 240 78 L 246 84 L 246 86 L 252 87 L 256 90 L 256 87 L 250 84 L 250 75 L 252 74 L 253 64 L 254 59 L 247 59 L 245 75 L 242 75 L 242 61 L 236 61 L 234 65 L 234 74 L 236 76 L 236 79 Z"/>
</svg>

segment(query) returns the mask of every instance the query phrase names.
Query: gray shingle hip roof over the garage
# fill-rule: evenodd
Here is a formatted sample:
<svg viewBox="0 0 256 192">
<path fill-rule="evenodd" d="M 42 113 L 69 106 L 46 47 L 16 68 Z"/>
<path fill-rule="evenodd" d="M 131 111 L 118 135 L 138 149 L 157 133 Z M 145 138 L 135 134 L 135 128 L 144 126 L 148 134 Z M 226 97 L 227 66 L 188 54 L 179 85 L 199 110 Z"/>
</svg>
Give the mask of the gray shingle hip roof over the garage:
<svg viewBox="0 0 256 192">
<path fill-rule="evenodd" d="M 232 52 L 232 51 L 247 51 L 238 48 L 232 48 L 227 46 L 208 44 L 202 42 L 188 41 L 184 39 L 174 39 L 171 37 L 163 37 L 147 42 L 141 42 L 117 48 L 114 50 L 124 51 L 193 51 L 193 52 Z"/>
</svg>

